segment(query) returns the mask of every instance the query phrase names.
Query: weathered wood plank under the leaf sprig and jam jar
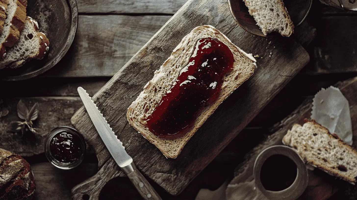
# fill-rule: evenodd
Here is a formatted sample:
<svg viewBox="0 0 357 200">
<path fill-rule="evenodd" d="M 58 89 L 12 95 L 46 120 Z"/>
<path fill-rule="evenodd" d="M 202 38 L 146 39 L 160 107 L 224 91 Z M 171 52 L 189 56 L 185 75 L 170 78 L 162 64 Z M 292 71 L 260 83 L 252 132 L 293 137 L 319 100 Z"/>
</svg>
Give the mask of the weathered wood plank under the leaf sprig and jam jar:
<svg viewBox="0 0 357 200">
<path fill-rule="evenodd" d="M 83 104 L 79 97 L 30 97 L 21 98 L 26 105 L 39 103 L 39 117 L 34 121 L 34 127 L 49 132 L 58 126 L 71 126 L 70 118 Z M 10 108 L 7 116 L 0 119 L 1 148 L 15 152 L 21 156 L 32 156 L 44 152 L 46 137 L 28 134 L 21 138 L 17 134 L 7 132 L 11 121 L 22 121 L 17 116 L 19 98 L 4 99 L 4 104 Z"/>
</svg>

